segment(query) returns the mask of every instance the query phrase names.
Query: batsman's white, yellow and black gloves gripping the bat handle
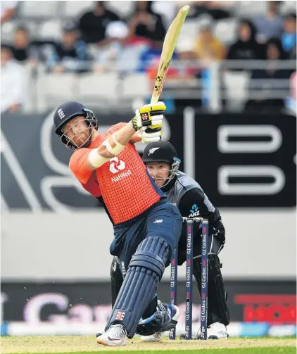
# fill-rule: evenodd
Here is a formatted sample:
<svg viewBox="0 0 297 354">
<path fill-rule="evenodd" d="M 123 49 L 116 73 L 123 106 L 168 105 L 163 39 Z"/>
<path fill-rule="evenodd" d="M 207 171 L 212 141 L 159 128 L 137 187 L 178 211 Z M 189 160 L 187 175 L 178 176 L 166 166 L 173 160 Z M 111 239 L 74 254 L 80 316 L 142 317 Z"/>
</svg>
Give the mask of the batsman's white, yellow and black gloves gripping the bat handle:
<svg viewBox="0 0 297 354">
<path fill-rule="evenodd" d="M 140 129 L 142 140 L 146 144 L 159 141 L 162 135 L 163 112 L 166 106 L 163 102 L 151 103 L 135 110 L 132 127 L 135 131 Z"/>
</svg>

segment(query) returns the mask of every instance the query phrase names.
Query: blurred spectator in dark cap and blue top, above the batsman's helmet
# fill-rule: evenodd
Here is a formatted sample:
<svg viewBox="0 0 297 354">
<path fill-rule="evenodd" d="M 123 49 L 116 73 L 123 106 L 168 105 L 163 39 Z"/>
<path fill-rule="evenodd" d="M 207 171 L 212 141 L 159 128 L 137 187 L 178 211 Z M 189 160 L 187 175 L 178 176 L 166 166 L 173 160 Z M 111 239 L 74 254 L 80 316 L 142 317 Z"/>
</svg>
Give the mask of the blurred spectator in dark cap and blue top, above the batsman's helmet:
<svg viewBox="0 0 297 354">
<path fill-rule="evenodd" d="M 63 27 L 61 43 L 53 46 L 49 56 L 50 72 L 85 72 L 88 71 L 87 45 L 79 38 L 79 32 L 74 23 Z"/>
</svg>

